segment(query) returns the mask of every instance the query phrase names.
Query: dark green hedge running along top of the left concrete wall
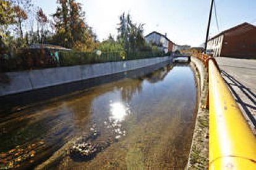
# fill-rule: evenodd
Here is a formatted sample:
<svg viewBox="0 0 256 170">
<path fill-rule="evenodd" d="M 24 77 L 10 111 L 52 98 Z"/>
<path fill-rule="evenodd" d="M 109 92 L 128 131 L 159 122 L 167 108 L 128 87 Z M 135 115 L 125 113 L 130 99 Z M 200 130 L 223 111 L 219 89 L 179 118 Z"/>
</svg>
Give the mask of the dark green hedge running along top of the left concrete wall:
<svg viewBox="0 0 256 170">
<path fill-rule="evenodd" d="M 164 54 L 163 52 L 154 51 L 127 52 L 127 54 L 124 52 L 103 52 L 101 55 L 96 55 L 95 52 L 59 52 L 59 62 L 56 62 L 57 60 L 53 56 L 51 56 L 51 59 L 48 59 L 49 55 L 46 56 L 44 54 L 38 56 L 33 55 L 33 57 L 30 58 L 27 54 L 22 54 L 22 56 L 18 55 L 18 57 L 12 59 L 5 59 L 0 56 L 0 71 L 22 71 L 93 63 L 119 62 L 122 60 L 162 57 Z M 31 62 L 32 59 L 33 62 Z"/>
</svg>

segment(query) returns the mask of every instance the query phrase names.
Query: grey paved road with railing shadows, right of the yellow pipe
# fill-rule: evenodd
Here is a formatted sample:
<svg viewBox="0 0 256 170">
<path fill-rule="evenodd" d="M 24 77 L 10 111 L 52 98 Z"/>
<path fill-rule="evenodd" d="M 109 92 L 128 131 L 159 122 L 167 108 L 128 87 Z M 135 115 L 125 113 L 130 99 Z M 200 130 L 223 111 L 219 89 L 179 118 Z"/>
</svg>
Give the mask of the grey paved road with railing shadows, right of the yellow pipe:
<svg viewBox="0 0 256 170">
<path fill-rule="evenodd" d="M 250 126 L 256 127 L 256 60 L 216 58 L 221 73 Z"/>
</svg>

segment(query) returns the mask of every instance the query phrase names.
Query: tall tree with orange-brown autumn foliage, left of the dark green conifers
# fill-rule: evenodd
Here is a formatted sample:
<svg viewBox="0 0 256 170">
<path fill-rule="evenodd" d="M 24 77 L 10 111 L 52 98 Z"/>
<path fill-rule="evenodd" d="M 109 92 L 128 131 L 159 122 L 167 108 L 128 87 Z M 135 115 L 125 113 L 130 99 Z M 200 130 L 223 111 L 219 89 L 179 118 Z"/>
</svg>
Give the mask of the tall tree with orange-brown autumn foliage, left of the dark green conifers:
<svg viewBox="0 0 256 170">
<path fill-rule="evenodd" d="M 98 44 L 92 28 L 85 23 L 85 12 L 75 0 L 59 0 L 53 14 L 56 34 L 54 42 L 77 51 L 93 51 Z"/>
</svg>

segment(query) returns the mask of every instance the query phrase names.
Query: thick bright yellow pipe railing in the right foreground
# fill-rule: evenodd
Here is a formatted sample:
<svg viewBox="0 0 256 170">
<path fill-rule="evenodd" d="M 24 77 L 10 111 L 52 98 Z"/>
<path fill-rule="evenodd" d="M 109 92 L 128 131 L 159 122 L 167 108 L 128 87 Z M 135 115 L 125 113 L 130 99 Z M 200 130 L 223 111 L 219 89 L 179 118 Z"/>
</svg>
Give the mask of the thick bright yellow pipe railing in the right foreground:
<svg viewBox="0 0 256 170">
<path fill-rule="evenodd" d="M 233 95 L 209 60 L 209 169 L 256 169 L 256 139 Z"/>
</svg>

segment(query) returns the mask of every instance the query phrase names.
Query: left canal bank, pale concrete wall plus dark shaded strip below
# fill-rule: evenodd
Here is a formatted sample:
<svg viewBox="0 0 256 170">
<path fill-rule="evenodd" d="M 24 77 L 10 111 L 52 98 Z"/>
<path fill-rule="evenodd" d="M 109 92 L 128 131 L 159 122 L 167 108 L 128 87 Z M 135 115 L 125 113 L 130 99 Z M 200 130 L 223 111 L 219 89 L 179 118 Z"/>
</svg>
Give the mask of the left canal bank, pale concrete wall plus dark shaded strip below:
<svg viewBox="0 0 256 170">
<path fill-rule="evenodd" d="M 4 77 L 5 81 L 0 79 L 0 111 L 15 106 L 23 107 L 125 78 L 127 73 L 132 73 L 133 70 L 155 66 L 158 68 L 157 65 L 169 60 L 169 57 L 156 57 L 4 73 L 1 77 Z"/>
</svg>

